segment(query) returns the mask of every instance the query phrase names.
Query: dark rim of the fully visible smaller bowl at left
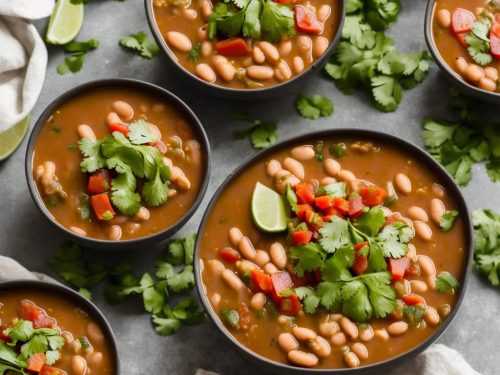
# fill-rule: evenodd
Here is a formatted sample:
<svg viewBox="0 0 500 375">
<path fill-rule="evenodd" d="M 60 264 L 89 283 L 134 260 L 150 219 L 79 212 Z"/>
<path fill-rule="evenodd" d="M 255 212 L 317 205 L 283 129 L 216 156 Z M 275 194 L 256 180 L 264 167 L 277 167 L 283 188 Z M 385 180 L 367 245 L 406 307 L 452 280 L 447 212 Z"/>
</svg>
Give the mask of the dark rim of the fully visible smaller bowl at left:
<svg viewBox="0 0 500 375">
<path fill-rule="evenodd" d="M 203 180 L 201 186 L 196 195 L 196 199 L 194 200 L 191 207 L 186 211 L 186 213 L 174 224 L 163 229 L 160 232 L 153 233 L 148 236 L 129 239 L 129 240 L 120 240 L 120 241 L 111 241 L 111 240 L 102 240 L 91 237 L 82 237 L 73 233 L 68 228 L 61 225 L 49 212 L 45 204 L 42 202 L 40 194 L 38 193 L 38 189 L 36 187 L 35 180 L 33 178 L 33 151 L 35 141 L 38 138 L 38 134 L 40 129 L 42 128 L 45 121 L 52 115 L 54 110 L 59 107 L 61 104 L 66 103 L 68 100 L 85 94 L 85 92 L 98 89 L 98 88 L 131 88 L 142 90 L 146 93 L 151 93 L 153 95 L 157 95 L 158 97 L 165 98 L 166 101 L 176 108 L 179 112 L 181 112 L 189 122 L 189 125 L 192 129 L 197 133 L 198 138 L 205 149 L 205 165 L 203 166 L 205 175 L 203 176 Z M 171 237 L 176 232 L 178 232 L 184 224 L 194 215 L 198 207 L 200 206 L 203 198 L 205 197 L 205 193 L 207 191 L 208 182 L 210 180 L 210 171 L 211 171 L 211 149 L 210 144 L 208 142 L 208 137 L 201 124 L 200 120 L 193 112 L 193 110 L 178 96 L 173 94 L 172 92 L 157 86 L 153 83 L 130 79 L 130 78 L 109 78 L 109 79 L 98 79 L 94 81 L 85 82 L 81 85 L 73 87 L 72 89 L 63 92 L 58 97 L 50 102 L 50 104 L 45 108 L 42 114 L 38 117 L 33 129 L 31 130 L 30 138 L 28 141 L 28 146 L 26 148 L 26 156 L 25 156 L 25 174 L 26 181 L 28 183 L 28 190 L 30 192 L 31 198 L 35 202 L 35 206 L 42 213 L 42 215 L 49 220 L 53 225 L 62 230 L 66 236 L 69 236 L 75 242 L 79 242 L 84 244 L 85 246 L 91 248 L 98 248 L 99 250 L 115 250 L 115 249 L 130 249 L 135 248 L 137 245 L 140 245 L 144 242 L 152 242 L 157 243 L 162 240 Z"/>
</svg>

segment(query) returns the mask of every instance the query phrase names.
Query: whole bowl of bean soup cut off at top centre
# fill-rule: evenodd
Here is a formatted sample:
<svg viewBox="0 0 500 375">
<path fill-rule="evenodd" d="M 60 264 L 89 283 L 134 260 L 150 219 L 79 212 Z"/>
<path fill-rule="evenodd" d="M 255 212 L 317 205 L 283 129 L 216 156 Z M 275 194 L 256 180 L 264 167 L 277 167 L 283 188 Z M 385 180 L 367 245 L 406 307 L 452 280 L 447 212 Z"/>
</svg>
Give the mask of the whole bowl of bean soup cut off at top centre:
<svg viewBox="0 0 500 375">
<path fill-rule="evenodd" d="M 145 0 L 170 62 L 197 88 L 231 99 L 284 95 L 323 67 L 345 0 Z"/>
</svg>

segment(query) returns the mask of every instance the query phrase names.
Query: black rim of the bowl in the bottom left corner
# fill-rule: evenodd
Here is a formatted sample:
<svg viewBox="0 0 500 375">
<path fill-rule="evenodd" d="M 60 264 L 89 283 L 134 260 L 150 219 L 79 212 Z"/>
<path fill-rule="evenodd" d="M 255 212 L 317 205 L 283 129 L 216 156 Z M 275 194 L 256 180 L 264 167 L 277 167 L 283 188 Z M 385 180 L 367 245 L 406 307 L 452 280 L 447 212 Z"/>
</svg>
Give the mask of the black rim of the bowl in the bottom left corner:
<svg viewBox="0 0 500 375">
<path fill-rule="evenodd" d="M 116 364 L 115 373 L 120 374 L 120 356 L 118 355 L 118 345 L 116 342 L 115 334 L 104 314 L 96 305 L 94 305 L 92 301 L 88 300 L 87 298 L 68 288 L 67 286 L 55 282 L 29 279 L 0 282 L 0 293 L 8 292 L 11 290 L 19 291 L 23 289 L 36 290 L 41 291 L 42 293 L 56 295 L 57 297 L 80 307 L 83 311 L 89 314 L 92 319 L 96 323 L 98 323 L 99 327 L 101 329 L 104 329 L 104 337 L 107 338 L 107 344 L 111 349 L 111 354 L 114 357 L 114 361 Z"/>
</svg>

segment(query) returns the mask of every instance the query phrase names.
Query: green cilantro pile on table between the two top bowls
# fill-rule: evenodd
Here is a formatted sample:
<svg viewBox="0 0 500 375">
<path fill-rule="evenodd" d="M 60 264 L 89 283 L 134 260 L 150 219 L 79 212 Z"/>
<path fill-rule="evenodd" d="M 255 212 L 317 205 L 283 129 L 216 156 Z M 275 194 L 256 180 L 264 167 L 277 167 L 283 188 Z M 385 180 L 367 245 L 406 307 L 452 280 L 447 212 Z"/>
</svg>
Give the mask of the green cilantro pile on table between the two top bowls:
<svg viewBox="0 0 500 375">
<path fill-rule="evenodd" d="M 429 70 L 427 52 L 400 53 L 384 30 L 394 24 L 399 0 L 347 0 L 342 39 L 326 73 L 344 94 L 360 87 L 370 90 L 383 112 L 397 109 L 402 88 L 412 89 Z"/>
</svg>

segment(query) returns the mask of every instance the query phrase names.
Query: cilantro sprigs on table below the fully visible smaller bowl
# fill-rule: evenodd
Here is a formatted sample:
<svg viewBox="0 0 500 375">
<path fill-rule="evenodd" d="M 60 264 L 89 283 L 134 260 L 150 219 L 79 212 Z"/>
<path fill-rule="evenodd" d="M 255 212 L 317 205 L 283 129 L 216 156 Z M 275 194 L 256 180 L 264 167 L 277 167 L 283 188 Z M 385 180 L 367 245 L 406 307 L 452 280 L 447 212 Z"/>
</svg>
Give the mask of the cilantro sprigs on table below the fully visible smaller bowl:
<svg viewBox="0 0 500 375">
<path fill-rule="evenodd" d="M 160 335 L 171 335 L 182 325 L 199 324 L 204 312 L 198 303 L 185 293 L 194 287 L 193 254 L 195 235 L 176 239 L 167 246 L 166 256 L 155 263 L 155 274 L 144 273 L 138 279 L 128 262 L 109 266 L 87 260 L 78 245 L 58 248 L 51 266 L 59 276 L 80 293 L 106 282 L 104 296 L 110 304 L 118 304 L 132 294 L 140 296 L 144 310 L 151 313 L 152 324 Z M 184 293 L 174 307 L 169 297 Z"/>
</svg>

